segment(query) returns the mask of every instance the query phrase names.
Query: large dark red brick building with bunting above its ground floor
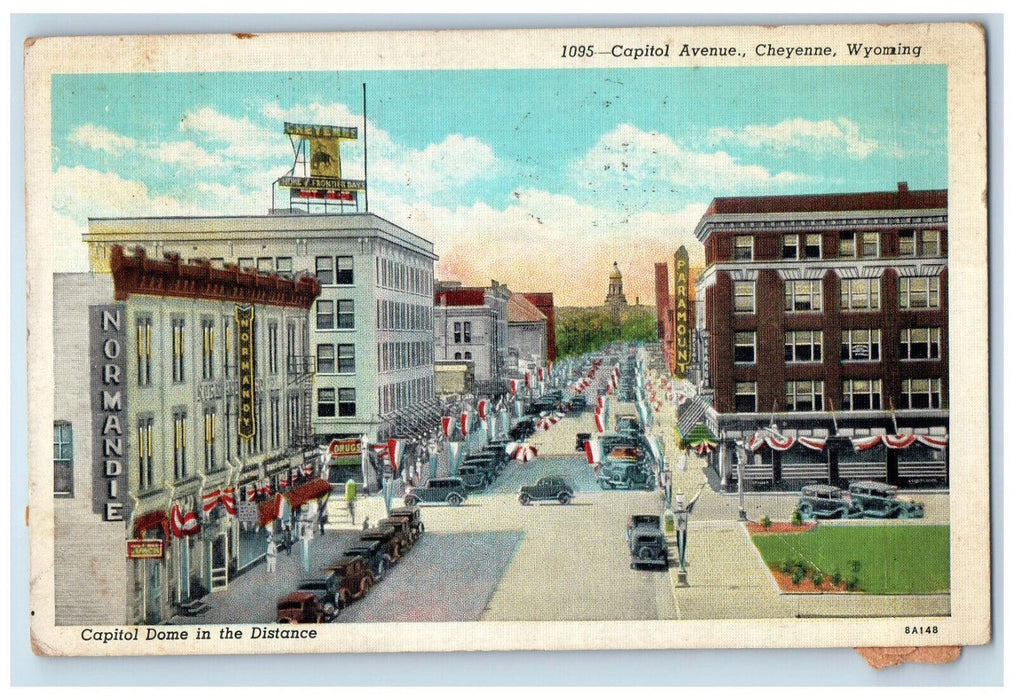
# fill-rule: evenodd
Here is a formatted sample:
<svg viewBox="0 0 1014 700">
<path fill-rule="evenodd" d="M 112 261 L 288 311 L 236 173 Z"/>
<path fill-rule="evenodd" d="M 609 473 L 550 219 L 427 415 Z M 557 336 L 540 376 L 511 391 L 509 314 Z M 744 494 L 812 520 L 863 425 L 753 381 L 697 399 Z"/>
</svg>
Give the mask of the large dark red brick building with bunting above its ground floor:
<svg viewBox="0 0 1014 700">
<path fill-rule="evenodd" d="M 723 483 L 946 483 L 947 192 L 715 199 L 700 413 Z M 682 419 L 684 429 L 689 426 Z"/>
</svg>

